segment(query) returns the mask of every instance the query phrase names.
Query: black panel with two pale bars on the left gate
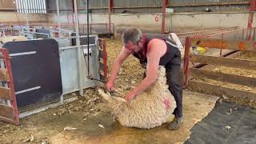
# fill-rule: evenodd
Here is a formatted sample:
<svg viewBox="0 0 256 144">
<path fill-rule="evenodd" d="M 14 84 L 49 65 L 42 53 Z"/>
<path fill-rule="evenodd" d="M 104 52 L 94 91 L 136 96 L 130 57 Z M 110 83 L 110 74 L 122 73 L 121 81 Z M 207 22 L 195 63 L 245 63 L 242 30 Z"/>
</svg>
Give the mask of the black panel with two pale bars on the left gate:
<svg viewBox="0 0 256 144">
<path fill-rule="evenodd" d="M 3 47 L 10 54 L 20 54 L 11 56 L 10 62 L 18 109 L 52 102 L 61 97 L 58 42 L 54 39 L 40 39 L 7 42 Z"/>
</svg>

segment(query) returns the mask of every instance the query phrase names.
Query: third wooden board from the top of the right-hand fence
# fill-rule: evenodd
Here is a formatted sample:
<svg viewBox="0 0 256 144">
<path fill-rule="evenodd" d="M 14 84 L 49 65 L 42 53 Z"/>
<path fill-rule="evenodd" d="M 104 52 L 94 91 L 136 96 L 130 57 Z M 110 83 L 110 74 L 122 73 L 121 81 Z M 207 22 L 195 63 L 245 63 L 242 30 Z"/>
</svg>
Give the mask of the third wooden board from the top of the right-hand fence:
<svg viewBox="0 0 256 144">
<path fill-rule="evenodd" d="M 245 77 L 234 74 L 218 73 L 210 70 L 190 68 L 190 75 L 196 78 L 210 78 L 222 82 L 230 82 L 239 85 L 256 86 L 256 78 Z"/>
</svg>

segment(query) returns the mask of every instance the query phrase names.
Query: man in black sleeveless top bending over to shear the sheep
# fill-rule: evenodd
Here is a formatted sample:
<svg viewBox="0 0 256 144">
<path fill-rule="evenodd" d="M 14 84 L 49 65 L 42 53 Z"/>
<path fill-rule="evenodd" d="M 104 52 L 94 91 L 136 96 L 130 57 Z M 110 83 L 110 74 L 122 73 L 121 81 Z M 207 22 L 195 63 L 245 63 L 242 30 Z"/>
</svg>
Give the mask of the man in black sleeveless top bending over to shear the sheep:
<svg viewBox="0 0 256 144">
<path fill-rule="evenodd" d="M 130 54 L 146 64 L 146 78 L 126 94 L 126 100 L 131 101 L 136 95 L 150 87 L 158 78 L 158 66 L 166 67 L 166 78 L 170 93 L 174 95 L 177 107 L 174 110 L 174 120 L 168 126 L 169 130 L 178 130 L 182 125 L 182 86 L 180 82 L 181 52 L 180 46 L 161 34 L 142 34 L 138 28 L 129 28 L 122 34 L 122 51 L 114 60 L 111 76 L 106 83 L 108 90 L 114 90 L 114 79 L 122 62 Z"/>
</svg>

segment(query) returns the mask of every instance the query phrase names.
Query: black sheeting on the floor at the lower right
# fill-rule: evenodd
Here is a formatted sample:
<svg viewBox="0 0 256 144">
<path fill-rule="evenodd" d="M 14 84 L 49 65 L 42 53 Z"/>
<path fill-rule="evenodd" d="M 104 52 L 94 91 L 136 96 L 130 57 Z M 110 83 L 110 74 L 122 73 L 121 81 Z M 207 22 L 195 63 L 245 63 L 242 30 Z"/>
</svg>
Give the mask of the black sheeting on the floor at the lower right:
<svg viewBox="0 0 256 144">
<path fill-rule="evenodd" d="M 214 110 L 190 131 L 190 139 L 186 144 L 255 144 L 256 110 L 236 103 L 218 103 Z"/>
</svg>

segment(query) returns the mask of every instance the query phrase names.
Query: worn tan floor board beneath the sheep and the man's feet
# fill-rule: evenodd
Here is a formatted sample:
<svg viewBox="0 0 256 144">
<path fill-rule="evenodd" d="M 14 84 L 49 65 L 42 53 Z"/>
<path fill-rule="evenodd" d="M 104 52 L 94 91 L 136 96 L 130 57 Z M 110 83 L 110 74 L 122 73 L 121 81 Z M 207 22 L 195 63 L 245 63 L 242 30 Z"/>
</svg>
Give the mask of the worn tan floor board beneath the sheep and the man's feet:
<svg viewBox="0 0 256 144">
<path fill-rule="evenodd" d="M 184 90 L 184 124 L 177 131 L 166 129 L 168 123 L 150 130 L 126 128 L 115 122 L 105 103 L 102 113 L 86 122 L 70 122 L 78 130 L 65 130 L 50 138 L 50 143 L 182 143 L 190 137 L 190 129 L 214 108 L 217 97 Z M 101 128 L 99 125 L 104 126 Z"/>
</svg>

